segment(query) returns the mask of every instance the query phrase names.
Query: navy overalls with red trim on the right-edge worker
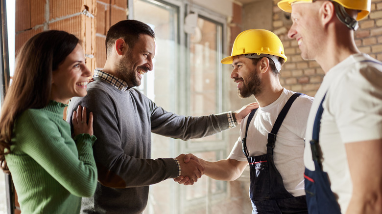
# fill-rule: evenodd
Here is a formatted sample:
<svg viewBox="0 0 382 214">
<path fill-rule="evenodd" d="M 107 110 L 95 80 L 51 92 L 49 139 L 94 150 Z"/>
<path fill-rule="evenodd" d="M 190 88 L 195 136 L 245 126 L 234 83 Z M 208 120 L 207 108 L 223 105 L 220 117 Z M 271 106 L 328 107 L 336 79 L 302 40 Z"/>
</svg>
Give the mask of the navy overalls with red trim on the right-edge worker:
<svg viewBox="0 0 382 214">
<path fill-rule="evenodd" d="M 320 133 L 321 115 L 324 111 L 322 103 L 326 94 L 322 98 L 318 107 L 313 124 L 313 135 L 310 141 L 310 149 L 313 157 L 315 171 L 305 168 L 305 193 L 307 195 L 308 211 L 310 214 L 340 214 L 337 200 L 330 189 L 328 173 L 322 171 L 321 159 L 319 157 L 318 138 Z"/>
</svg>

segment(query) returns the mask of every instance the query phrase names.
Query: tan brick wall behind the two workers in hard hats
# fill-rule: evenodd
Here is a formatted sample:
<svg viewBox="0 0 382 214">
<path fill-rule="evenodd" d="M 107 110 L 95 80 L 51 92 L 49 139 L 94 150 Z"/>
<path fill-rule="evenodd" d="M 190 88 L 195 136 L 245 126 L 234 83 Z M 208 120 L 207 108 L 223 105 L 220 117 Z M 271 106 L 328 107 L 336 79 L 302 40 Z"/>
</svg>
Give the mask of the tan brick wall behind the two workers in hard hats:
<svg viewBox="0 0 382 214">
<path fill-rule="evenodd" d="M 291 21 L 273 0 L 273 31 L 284 44 L 288 61 L 280 72 L 280 82 L 287 89 L 314 96 L 324 77 L 324 72 L 315 61 L 305 61 L 295 40 L 287 38 Z M 288 15 L 288 14 L 287 14 Z M 356 44 L 361 52 L 382 60 L 382 0 L 372 0 L 371 13 L 359 21 L 355 32 Z"/>
</svg>

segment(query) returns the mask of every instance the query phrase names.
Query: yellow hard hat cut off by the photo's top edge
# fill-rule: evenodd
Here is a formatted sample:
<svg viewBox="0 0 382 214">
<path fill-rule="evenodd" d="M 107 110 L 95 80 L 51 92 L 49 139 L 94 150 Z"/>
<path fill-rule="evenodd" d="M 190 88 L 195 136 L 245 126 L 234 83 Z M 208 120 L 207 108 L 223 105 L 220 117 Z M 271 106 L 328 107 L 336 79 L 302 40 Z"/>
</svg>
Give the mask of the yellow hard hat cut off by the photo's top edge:
<svg viewBox="0 0 382 214">
<path fill-rule="evenodd" d="M 292 3 L 295 2 L 312 2 L 313 0 L 281 0 L 277 3 L 277 6 L 280 7 L 280 9 L 284 10 L 285 12 L 292 12 L 292 7 L 290 6 Z M 352 9 L 352 10 L 360 10 L 361 12 L 358 13 L 357 21 L 365 18 L 367 15 L 369 15 L 371 10 L 371 0 L 332 0 L 337 3 L 339 3 L 341 6 Z"/>
</svg>

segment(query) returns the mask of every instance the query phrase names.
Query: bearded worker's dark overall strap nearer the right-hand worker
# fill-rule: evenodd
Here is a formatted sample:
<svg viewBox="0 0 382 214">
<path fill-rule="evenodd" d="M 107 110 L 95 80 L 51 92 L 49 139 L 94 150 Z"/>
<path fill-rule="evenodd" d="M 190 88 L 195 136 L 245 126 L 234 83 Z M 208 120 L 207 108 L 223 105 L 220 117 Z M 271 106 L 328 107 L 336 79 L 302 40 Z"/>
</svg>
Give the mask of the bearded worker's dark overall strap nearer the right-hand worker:
<svg viewBox="0 0 382 214">
<path fill-rule="evenodd" d="M 268 143 L 266 144 L 267 153 L 269 153 L 268 152 L 268 150 L 269 150 L 270 153 L 273 154 L 273 149 L 275 148 L 277 132 L 279 131 L 281 124 L 283 123 L 285 117 L 287 116 L 289 108 L 292 106 L 292 104 L 296 100 L 296 98 L 299 97 L 300 95 L 301 95 L 301 93 L 294 93 L 289 98 L 289 100 L 287 101 L 287 103 L 285 104 L 283 109 L 281 109 L 280 114 L 276 119 L 275 125 L 273 125 L 271 132 L 268 133 L 268 138 L 267 138 Z"/>
</svg>

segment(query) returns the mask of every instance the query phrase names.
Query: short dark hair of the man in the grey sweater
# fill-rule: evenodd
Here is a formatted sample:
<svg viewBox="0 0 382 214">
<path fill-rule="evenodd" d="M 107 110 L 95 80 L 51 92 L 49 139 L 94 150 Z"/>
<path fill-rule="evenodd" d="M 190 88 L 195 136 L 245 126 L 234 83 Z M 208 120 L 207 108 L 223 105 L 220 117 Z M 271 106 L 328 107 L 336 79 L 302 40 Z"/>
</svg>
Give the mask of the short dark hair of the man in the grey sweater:
<svg viewBox="0 0 382 214">
<path fill-rule="evenodd" d="M 137 20 L 122 20 L 110 27 L 106 34 L 106 57 L 112 50 L 114 43 L 122 38 L 129 48 L 133 48 L 140 34 L 146 34 L 155 38 L 154 31 L 150 26 Z"/>
</svg>

